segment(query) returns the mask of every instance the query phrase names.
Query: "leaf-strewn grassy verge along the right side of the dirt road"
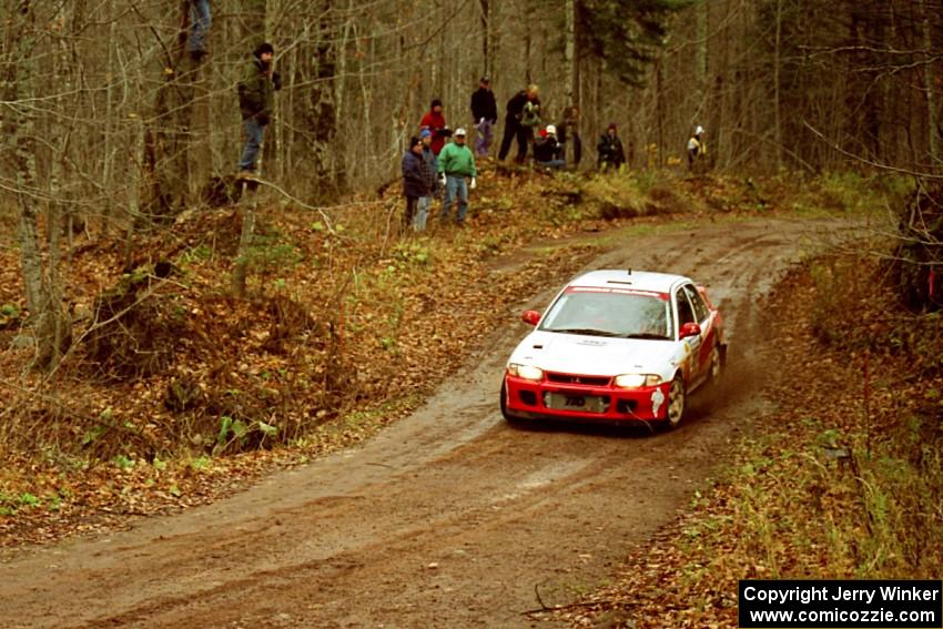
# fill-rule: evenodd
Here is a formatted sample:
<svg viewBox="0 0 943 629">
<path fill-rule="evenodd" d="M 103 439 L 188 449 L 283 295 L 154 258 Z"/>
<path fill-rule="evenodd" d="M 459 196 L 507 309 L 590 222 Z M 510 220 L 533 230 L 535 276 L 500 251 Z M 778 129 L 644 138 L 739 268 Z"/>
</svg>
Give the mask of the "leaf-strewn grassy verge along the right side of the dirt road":
<svg viewBox="0 0 943 629">
<path fill-rule="evenodd" d="M 936 579 L 943 318 L 902 307 L 893 242 L 805 261 L 765 308 L 775 409 L 574 626 L 737 627 L 739 579 Z"/>
</svg>

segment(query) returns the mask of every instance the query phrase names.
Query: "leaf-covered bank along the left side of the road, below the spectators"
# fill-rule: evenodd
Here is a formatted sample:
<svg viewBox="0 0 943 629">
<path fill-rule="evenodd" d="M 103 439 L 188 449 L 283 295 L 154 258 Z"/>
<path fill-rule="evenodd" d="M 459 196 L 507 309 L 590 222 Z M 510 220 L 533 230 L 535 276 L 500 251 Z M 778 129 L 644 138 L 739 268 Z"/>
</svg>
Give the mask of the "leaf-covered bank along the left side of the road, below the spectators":
<svg viewBox="0 0 943 629">
<path fill-rule="evenodd" d="M 4 247 L 0 546 L 203 504 L 363 440 L 598 255 L 580 234 L 679 215 L 852 212 L 875 185 L 486 168 L 468 226 L 430 220 L 419 235 L 400 233 L 395 190 L 327 209 L 261 192 L 241 300 L 230 290 L 236 207 L 139 231 L 130 265 L 122 239 L 88 229 L 64 256 L 73 343 L 52 374 L 23 368 L 18 251 Z"/>
</svg>

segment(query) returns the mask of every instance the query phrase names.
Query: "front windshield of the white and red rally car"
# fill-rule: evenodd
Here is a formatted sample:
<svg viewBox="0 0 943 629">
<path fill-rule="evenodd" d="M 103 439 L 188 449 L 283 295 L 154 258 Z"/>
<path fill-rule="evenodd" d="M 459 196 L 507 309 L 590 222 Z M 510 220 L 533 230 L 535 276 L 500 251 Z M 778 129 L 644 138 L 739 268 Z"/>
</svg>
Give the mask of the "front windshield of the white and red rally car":
<svg viewBox="0 0 943 629">
<path fill-rule="evenodd" d="M 652 294 L 567 291 L 540 325 L 546 332 L 619 338 L 671 338 L 670 302 Z"/>
</svg>

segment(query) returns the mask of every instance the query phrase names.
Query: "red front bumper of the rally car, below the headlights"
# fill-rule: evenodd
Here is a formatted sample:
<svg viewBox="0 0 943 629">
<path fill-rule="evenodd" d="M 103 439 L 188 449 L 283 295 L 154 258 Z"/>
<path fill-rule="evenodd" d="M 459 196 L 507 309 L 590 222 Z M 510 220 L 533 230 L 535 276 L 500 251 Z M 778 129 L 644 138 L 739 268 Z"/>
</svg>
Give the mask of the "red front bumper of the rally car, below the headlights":
<svg viewBox="0 0 943 629">
<path fill-rule="evenodd" d="M 506 374 L 504 407 L 507 415 L 521 419 L 657 422 L 667 417 L 668 388 L 669 383 L 640 388 L 559 384 L 546 379 L 538 383 Z M 594 408 L 587 409 L 587 406 Z"/>
</svg>

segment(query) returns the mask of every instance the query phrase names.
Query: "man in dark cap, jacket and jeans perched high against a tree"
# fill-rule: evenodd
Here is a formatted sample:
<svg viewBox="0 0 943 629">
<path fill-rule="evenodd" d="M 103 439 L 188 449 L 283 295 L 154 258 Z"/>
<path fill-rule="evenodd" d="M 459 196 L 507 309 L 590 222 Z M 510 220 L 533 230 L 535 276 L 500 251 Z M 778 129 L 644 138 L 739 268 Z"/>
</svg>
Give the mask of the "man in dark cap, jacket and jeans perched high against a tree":
<svg viewBox="0 0 943 629">
<path fill-rule="evenodd" d="M 252 52 L 252 61 L 236 85 L 245 144 L 239 160 L 240 176 L 255 173 L 256 160 L 262 149 L 265 125 L 275 106 L 275 85 L 272 81 L 272 58 L 275 49 L 268 42 L 260 43 Z"/>
</svg>

